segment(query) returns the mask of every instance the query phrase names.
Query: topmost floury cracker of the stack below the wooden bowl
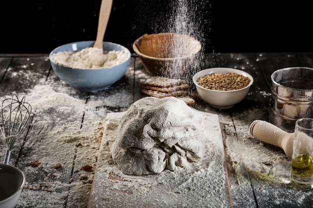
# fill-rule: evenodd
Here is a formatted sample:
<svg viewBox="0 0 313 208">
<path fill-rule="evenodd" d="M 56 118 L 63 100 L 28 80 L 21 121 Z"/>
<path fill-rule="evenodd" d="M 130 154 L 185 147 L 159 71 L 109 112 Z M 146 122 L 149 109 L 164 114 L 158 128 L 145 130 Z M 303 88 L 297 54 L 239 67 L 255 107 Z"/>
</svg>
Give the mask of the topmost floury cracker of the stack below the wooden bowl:
<svg viewBox="0 0 313 208">
<path fill-rule="evenodd" d="M 138 83 L 154 87 L 169 87 L 173 85 L 186 83 L 186 81 L 182 79 L 172 79 L 161 76 L 153 76 L 146 79 L 139 79 Z"/>
</svg>

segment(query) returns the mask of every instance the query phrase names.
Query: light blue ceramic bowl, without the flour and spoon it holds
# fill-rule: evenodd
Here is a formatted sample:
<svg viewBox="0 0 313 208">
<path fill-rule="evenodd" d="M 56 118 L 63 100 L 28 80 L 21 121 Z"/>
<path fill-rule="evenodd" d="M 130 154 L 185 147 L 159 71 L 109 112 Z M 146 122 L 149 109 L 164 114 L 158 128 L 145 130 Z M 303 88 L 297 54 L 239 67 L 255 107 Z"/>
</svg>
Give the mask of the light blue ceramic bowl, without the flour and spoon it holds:
<svg viewBox="0 0 313 208">
<path fill-rule="evenodd" d="M 114 82 L 118 81 L 126 72 L 129 61 L 130 52 L 122 45 L 103 42 L 103 50 L 125 51 L 127 58 L 120 64 L 103 67 L 97 69 L 80 69 L 64 66 L 51 60 L 51 55 L 58 51 L 77 51 L 86 47 L 92 47 L 94 41 L 81 41 L 61 45 L 49 54 L 50 64 L 56 76 L 69 84 L 73 88 L 81 91 L 98 91 L 107 89 Z"/>
</svg>

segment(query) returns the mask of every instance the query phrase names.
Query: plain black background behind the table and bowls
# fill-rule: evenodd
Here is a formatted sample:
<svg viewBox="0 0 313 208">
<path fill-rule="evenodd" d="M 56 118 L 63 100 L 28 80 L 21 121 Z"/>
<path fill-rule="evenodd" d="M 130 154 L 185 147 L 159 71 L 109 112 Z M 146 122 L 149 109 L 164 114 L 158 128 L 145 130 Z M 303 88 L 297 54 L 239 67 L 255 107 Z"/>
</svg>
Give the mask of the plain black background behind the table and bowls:
<svg viewBox="0 0 313 208">
<path fill-rule="evenodd" d="M 177 0 L 113 0 L 104 41 L 131 49 L 170 28 Z M 309 1 L 185 0 L 204 52 L 313 51 Z M 95 40 L 101 0 L 1 0 L 0 53 L 49 53 Z"/>
</svg>

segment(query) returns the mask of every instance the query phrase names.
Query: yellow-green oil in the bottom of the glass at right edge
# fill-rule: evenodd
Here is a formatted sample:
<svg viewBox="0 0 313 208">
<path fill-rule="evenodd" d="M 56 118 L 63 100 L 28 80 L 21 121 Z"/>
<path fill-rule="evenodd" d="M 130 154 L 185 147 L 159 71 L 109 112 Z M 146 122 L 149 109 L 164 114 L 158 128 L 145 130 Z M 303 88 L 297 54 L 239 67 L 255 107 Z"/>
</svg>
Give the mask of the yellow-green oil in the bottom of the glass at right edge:
<svg viewBox="0 0 313 208">
<path fill-rule="evenodd" d="M 307 154 L 293 156 L 291 160 L 290 184 L 299 190 L 313 186 L 313 158 Z"/>
</svg>

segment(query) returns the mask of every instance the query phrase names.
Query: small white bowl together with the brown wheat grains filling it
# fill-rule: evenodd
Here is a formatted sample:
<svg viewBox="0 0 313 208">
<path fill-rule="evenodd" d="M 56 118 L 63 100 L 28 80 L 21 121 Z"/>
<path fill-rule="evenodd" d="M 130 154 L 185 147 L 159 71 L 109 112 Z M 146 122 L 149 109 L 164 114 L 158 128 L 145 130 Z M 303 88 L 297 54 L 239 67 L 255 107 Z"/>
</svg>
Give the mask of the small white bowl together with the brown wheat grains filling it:
<svg viewBox="0 0 313 208">
<path fill-rule="evenodd" d="M 228 109 L 247 95 L 253 77 L 238 69 L 209 68 L 192 77 L 199 96 L 213 108 Z"/>
</svg>

